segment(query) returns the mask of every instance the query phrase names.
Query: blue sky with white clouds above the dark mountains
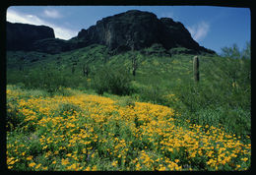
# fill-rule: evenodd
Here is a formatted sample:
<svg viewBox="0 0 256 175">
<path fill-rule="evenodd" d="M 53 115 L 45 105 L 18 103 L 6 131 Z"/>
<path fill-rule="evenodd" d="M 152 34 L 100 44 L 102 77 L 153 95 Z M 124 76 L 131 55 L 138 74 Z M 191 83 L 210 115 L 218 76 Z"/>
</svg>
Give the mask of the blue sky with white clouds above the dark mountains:
<svg viewBox="0 0 256 175">
<path fill-rule="evenodd" d="M 224 46 L 236 43 L 240 49 L 251 38 L 249 8 L 217 6 L 11 6 L 6 20 L 48 26 L 55 37 L 70 39 L 81 29 L 96 25 L 96 21 L 128 10 L 152 12 L 157 17 L 182 23 L 191 36 L 206 48 L 221 53 Z"/>
</svg>

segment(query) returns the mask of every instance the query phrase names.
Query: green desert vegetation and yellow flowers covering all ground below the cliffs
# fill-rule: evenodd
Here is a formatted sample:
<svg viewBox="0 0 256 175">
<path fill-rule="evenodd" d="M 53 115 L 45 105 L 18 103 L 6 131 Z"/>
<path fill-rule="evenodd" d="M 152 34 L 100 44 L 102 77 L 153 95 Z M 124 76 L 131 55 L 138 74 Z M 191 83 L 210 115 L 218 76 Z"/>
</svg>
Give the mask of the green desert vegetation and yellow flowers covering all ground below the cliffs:
<svg viewBox="0 0 256 175">
<path fill-rule="evenodd" d="M 196 68 L 185 48 L 156 45 L 7 52 L 8 168 L 248 170 L 249 44 L 227 48 Z"/>
</svg>

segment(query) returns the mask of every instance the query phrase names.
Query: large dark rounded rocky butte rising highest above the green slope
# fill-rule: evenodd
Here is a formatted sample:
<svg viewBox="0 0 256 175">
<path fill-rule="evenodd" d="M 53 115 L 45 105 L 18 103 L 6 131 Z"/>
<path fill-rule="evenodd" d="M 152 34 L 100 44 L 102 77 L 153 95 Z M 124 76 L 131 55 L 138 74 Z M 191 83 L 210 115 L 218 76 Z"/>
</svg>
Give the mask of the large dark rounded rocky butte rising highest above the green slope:
<svg viewBox="0 0 256 175">
<path fill-rule="evenodd" d="M 12 32 L 12 31 L 9 31 Z M 25 34 L 23 38 L 28 35 Z M 9 35 L 8 35 L 9 37 Z M 19 38 L 19 37 L 17 37 Z M 8 39 L 7 39 L 8 40 Z M 52 36 L 33 41 L 32 50 L 47 53 L 59 53 L 91 44 L 106 45 L 110 50 L 140 50 L 161 44 L 166 50 L 184 47 L 195 53 L 215 53 L 200 46 L 185 27 L 170 18 L 160 18 L 150 12 L 130 10 L 121 14 L 103 18 L 89 29 L 82 29 L 70 40 Z"/>
</svg>

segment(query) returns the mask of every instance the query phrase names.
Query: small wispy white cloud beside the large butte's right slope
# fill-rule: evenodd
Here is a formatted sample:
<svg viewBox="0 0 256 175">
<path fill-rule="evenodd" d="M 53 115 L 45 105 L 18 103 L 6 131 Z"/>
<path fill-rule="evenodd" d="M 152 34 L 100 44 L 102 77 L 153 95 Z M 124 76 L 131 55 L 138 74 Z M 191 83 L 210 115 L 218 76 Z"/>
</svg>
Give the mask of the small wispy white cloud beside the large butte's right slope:
<svg viewBox="0 0 256 175">
<path fill-rule="evenodd" d="M 209 32 L 210 25 L 206 22 L 200 22 L 197 25 L 194 25 L 192 27 L 187 27 L 189 32 L 191 33 L 192 37 L 196 41 L 200 41 L 206 37 L 206 35 Z"/>
</svg>

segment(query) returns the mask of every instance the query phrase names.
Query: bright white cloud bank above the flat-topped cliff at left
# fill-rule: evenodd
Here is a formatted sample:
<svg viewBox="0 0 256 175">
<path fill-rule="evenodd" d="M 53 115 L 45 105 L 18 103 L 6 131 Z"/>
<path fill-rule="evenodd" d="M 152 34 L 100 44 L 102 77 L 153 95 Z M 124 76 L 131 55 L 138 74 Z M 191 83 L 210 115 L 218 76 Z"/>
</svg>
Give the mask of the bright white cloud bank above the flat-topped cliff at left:
<svg viewBox="0 0 256 175">
<path fill-rule="evenodd" d="M 74 37 L 78 33 L 78 31 L 75 31 L 75 30 L 62 28 L 60 26 L 45 22 L 44 20 L 38 18 L 35 15 L 23 14 L 11 9 L 8 9 L 6 19 L 8 22 L 11 22 L 11 23 L 23 23 L 23 24 L 31 24 L 36 26 L 43 25 L 43 26 L 50 27 L 54 29 L 55 37 L 58 37 L 61 39 L 70 39 L 71 37 Z"/>
</svg>

